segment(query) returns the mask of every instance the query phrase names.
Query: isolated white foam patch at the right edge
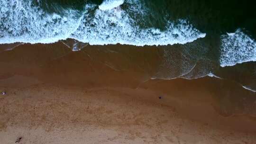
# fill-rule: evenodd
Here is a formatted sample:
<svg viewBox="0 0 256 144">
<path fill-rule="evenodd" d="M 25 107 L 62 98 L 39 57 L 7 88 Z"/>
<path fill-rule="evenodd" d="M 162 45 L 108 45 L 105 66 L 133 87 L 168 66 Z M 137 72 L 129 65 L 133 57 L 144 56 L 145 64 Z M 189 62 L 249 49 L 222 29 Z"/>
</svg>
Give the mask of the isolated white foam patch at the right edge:
<svg viewBox="0 0 256 144">
<path fill-rule="evenodd" d="M 256 61 L 256 41 L 240 29 L 221 36 L 220 66 Z"/>
</svg>

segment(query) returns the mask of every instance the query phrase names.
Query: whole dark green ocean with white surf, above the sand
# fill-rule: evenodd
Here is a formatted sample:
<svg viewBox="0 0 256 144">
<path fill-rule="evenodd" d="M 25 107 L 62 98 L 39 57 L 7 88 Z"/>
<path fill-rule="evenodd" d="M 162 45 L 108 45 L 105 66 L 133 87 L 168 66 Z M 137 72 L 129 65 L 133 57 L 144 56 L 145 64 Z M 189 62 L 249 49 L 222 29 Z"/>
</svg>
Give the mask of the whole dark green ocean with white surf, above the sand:
<svg viewBox="0 0 256 144">
<path fill-rule="evenodd" d="M 0 52 L 123 45 L 159 53 L 151 79 L 209 76 L 256 92 L 255 9 L 252 0 L 0 0 Z"/>
</svg>

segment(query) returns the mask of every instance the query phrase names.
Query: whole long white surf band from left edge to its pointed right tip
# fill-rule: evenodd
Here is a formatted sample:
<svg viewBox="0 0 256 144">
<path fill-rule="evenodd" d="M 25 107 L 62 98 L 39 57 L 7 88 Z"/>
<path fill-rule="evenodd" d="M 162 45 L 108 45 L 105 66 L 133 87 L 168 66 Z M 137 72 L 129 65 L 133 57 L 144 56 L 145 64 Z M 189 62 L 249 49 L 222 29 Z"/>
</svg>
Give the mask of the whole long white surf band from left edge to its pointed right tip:
<svg viewBox="0 0 256 144">
<path fill-rule="evenodd" d="M 142 13 L 143 9 L 139 8 L 144 6 L 139 0 L 124 2 L 133 14 Z M 33 0 L 0 0 L 0 44 L 46 44 L 73 38 L 90 45 L 173 45 L 205 36 L 185 20 L 179 20 L 178 24 L 170 21 L 164 31 L 154 27 L 140 28 L 136 19 L 116 6 L 102 10 L 97 5 L 86 4 L 83 12 L 59 8 L 62 9 L 59 15 L 46 13 Z"/>
</svg>

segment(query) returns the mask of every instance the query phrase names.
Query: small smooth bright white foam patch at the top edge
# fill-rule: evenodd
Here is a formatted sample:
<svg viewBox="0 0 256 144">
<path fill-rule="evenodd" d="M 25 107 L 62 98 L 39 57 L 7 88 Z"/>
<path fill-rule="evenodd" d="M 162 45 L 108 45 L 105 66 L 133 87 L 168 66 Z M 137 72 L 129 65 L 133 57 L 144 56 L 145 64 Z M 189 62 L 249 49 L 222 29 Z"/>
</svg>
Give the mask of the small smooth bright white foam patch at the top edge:
<svg viewBox="0 0 256 144">
<path fill-rule="evenodd" d="M 104 0 L 101 5 L 99 5 L 99 9 L 101 10 L 109 10 L 119 7 L 124 3 L 124 0 Z"/>
</svg>

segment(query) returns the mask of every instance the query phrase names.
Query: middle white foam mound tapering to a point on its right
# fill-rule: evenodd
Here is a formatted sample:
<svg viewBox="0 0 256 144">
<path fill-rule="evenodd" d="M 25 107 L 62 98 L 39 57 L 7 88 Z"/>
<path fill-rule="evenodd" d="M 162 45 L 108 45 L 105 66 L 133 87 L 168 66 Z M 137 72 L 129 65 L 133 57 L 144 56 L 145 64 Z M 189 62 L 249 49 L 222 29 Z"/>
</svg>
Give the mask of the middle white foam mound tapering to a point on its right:
<svg viewBox="0 0 256 144">
<path fill-rule="evenodd" d="M 93 7 L 93 6 L 92 6 Z M 136 11 L 135 11 L 136 12 Z M 140 28 L 122 9 L 96 9 L 94 16 L 85 14 L 80 27 L 71 38 L 90 45 L 174 45 L 192 42 L 205 34 L 185 20 L 179 24 L 169 22 L 165 31 Z"/>
</svg>

